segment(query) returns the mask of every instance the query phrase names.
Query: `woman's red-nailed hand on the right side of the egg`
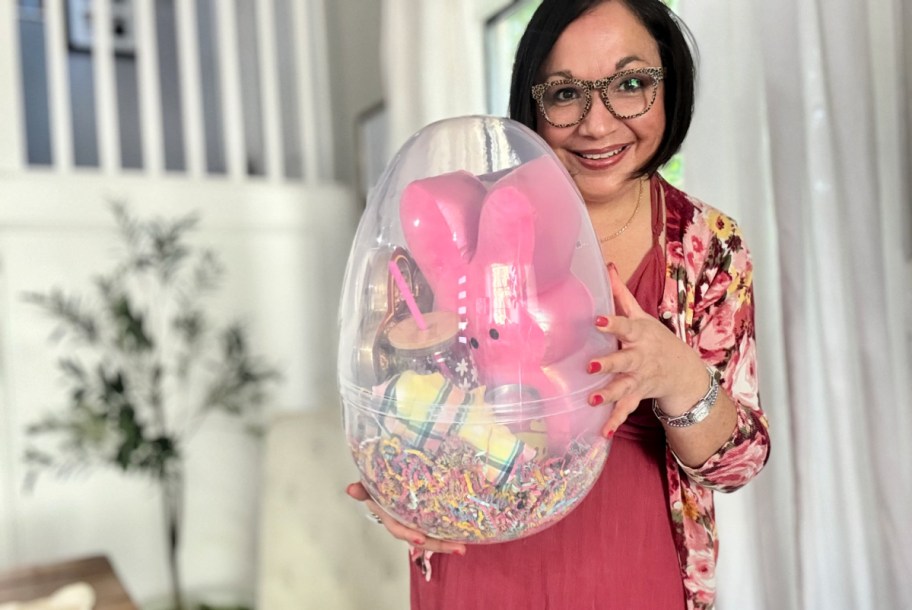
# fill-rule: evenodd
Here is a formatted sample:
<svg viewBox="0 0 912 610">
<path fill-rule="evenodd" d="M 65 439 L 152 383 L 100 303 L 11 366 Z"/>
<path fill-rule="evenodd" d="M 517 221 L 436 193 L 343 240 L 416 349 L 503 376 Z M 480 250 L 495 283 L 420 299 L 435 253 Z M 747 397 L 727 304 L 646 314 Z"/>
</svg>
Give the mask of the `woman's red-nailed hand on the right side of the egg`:
<svg viewBox="0 0 912 610">
<path fill-rule="evenodd" d="M 644 398 L 658 400 L 669 415 L 683 413 L 706 392 L 709 377 L 697 353 L 643 311 L 610 263 L 608 275 L 618 315 L 599 316 L 596 327 L 617 337 L 620 349 L 593 359 L 588 371 L 614 374 L 607 385 L 589 396 L 593 406 L 615 403 L 602 429 L 610 438 Z"/>
</svg>

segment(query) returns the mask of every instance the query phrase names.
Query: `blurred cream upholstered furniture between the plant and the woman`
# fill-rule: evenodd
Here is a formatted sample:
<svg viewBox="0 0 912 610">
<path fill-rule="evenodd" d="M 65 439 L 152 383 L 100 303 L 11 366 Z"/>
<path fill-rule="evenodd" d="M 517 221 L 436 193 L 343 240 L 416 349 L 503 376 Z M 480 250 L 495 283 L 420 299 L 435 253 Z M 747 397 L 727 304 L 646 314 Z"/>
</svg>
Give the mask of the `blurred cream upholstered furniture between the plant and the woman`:
<svg viewBox="0 0 912 610">
<path fill-rule="evenodd" d="M 345 494 L 339 409 L 283 414 L 265 439 L 258 608 L 405 610 L 408 549 Z"/>
</svg>

